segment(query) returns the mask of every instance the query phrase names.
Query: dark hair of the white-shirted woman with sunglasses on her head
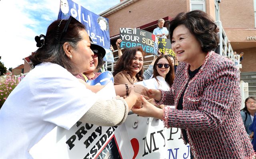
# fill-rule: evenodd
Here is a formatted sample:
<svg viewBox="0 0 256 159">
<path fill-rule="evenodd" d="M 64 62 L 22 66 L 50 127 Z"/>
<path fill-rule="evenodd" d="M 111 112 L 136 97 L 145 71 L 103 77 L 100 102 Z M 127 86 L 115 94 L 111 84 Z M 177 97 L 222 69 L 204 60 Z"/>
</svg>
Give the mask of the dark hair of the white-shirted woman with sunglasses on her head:
<svg viewBox="0 0 256 159">
<path fill-rule="evenodd" d="M 77 43 L 83 38 L 80 31 L 85 30 L 85 26 L 77 20 L 71 20 L 66 34 L 60 41 L 56 40 L 60 37 L 67 21 L 68 20 L 55 20 L 48 26 L 45 36 L 46 45 L 37 49 L 29 57 L 32 62 L 32 67 L 43 62 L 50 62 L 64 67 L 70 73 L 76 72 L 76 68 L 72 66 L 70 59 L 65 55 L 63 44 L 68 42 L 72 47 L 76 48 Z"/>
</svg>

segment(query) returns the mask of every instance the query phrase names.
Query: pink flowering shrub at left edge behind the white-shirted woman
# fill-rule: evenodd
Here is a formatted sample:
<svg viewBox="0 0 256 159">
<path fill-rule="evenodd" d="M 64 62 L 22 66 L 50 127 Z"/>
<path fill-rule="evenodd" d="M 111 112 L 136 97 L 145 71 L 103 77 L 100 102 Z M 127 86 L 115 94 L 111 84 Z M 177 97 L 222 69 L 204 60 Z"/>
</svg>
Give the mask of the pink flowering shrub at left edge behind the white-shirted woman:
<svg viewBox="0 0 256 159">
<path fill-rule="evenodd" d="M 4 82 L 0 82 L 0 108 L 4 104 L 8 95 L 19 84 L 21 77 L 15 79 L 14 76 L 6 77 Z"/>
</svg>

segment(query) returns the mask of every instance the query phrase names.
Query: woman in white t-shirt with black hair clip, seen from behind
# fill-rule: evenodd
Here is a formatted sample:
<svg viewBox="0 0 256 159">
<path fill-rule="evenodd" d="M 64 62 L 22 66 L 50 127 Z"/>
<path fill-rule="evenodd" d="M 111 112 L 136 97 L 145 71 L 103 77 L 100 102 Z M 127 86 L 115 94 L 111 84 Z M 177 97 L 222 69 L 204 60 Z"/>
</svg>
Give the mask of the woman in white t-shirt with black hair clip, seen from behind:
<svg viewBox="0 0 256 159">
<path fill-rule="evenodd" d="M 89 69 L 94 53 L 84 25 L 71 16 L 52 22 L 46 36 L 35 40 L 39 48 L 30 56 L 34 69 L 0 110 L 1 158 L 31 159 L 30 148 L 56 126 L 69 130 L 78 120 L 122 124 L 136 101 L 141 103 L 140 94 L 124 85 L 117 94 L 129 94 L 127 98 L 101 100 L 74 76 Z"/>
</svg>

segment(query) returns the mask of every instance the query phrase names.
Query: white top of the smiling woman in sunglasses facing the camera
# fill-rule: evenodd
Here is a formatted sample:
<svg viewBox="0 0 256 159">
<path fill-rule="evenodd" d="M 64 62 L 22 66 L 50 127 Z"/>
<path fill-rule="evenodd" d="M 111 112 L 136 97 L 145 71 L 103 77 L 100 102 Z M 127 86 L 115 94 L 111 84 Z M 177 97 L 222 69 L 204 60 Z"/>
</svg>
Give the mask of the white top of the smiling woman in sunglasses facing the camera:
<svg viewBox="0 0 256 159">
<path fill-rule="evenodd" d="M 136 82 L 134 84 L 140 84 L 142 86 L 147 87 L 148 89 L 161 89 L 161 90 L 170 90 L 170 86 L 169 84 L 165 81 L 164 77 L 162 76 L 157 76 L 156 77 L 159 81 L 159 83 L 157 82 L 157 80 L 155 78 L 152 79 L 148 79 L 148 80 L 142 80 L 140 82 Z"/>
</svg>

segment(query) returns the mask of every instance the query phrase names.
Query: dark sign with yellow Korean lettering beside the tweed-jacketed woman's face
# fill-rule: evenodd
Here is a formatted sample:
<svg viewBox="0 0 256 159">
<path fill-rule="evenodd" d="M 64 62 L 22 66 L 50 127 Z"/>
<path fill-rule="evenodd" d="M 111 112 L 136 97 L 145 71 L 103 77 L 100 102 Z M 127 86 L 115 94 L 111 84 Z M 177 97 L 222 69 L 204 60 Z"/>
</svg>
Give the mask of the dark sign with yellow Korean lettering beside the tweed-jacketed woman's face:
<svg viewBox="0 0 256 159">
<path fill-rule="evenodd" d="M 161 51 L 162 55 L 166 51 L 168 51 L 167 54 L 172 55 L 173 57 L 176 57 L 174 51 L 172 51 L 172 44 L 170 42 L 170 39 L 158 37 L 158 49 Z"/>
</svg>

